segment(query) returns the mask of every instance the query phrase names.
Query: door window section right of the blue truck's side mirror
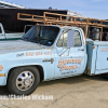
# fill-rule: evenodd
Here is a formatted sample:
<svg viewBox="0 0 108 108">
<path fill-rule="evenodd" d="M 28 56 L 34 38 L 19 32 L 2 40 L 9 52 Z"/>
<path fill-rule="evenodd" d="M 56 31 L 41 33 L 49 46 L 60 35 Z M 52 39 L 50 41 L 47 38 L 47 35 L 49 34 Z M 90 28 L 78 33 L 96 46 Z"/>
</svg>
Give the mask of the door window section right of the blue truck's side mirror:
<svg viewBox="0 0 108 108">
<path fill-rule="evenodd" d="M 75 30 L 75 44 L 73 46 L 81 46 L 81 36 L 80 32 L 78 30 Z"/>
</svg>

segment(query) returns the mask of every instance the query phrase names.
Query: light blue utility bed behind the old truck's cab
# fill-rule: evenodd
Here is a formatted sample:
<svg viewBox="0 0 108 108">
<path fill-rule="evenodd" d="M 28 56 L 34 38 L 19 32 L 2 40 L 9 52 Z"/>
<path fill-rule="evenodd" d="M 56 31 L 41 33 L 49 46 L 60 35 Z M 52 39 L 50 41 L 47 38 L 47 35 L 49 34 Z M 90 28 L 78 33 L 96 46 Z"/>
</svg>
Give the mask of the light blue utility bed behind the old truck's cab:
<svg viewBox="0 0 108 108">
<path fill-rule="evenodd" d="M 108 41 L 86 41 L 87 65 L 90 76 L 108 72 Z"/>
</svg>

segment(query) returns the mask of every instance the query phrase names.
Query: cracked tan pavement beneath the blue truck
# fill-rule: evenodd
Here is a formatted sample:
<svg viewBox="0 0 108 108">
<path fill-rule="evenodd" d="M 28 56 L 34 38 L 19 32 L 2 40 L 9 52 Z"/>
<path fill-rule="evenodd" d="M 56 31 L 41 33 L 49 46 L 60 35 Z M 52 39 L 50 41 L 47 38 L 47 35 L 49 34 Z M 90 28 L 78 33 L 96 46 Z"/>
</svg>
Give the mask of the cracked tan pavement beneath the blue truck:
<svg viewBox="0 0 108 108">
<path fill-rule="evenodd" d="M 9 95 L 5 86 L 0 86 L 0 95 Z M 0 99 L 0 108 L 108 108 L 108 80 L 82 75 L 41 82 L 31 95 L 53 99 Z"/>
</svg>

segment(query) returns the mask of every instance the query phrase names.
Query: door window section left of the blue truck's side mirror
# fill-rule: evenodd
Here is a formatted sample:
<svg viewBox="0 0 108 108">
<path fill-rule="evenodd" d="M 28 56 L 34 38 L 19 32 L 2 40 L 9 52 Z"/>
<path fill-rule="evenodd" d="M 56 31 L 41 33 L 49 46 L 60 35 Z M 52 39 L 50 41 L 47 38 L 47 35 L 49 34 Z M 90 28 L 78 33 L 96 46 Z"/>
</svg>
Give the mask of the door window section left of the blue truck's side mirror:
<svg viewBox="0 0 108 108">
<path fill-rule="evenodd" d="M 67 37 L 68 37 L 68 31 L 64 31 L 57 41 L 57 46 L 67 46 Z"/>
</svg>

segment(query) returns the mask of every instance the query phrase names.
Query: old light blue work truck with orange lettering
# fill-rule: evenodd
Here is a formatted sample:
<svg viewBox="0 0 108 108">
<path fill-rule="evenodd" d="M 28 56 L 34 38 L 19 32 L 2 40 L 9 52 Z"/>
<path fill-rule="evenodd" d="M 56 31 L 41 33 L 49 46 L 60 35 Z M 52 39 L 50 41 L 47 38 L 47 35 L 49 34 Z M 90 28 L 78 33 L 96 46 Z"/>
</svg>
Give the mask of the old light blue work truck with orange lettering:
<svg viewBox="0 0 108 108">
<path fill-rule="evenodd" d="M 16 41 L 0 42 L 0 85 L 29 95 L 40 81 L 86 73 L 108 76 L 108 42 L 87 39 L 80 27 L 35 25 Z"/>
</svg>

